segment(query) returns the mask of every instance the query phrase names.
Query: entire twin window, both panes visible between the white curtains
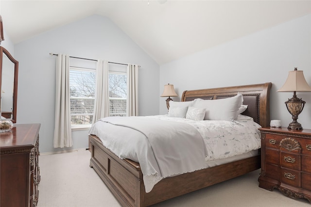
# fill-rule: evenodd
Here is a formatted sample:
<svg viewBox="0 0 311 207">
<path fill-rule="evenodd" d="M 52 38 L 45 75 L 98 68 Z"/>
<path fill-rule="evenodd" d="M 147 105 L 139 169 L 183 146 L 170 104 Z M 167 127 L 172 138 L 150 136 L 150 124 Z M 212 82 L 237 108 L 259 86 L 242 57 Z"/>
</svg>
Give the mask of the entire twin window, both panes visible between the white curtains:
<svg viewBox="0 0 311 207">
<path fill-rule="evenodd" d="M 95 69 L 70 67 L 71 127 L 92 124 L 95 103 Z M 109 72 L 109 115 L 126 116 L 126 72 Z"/>
</svg>

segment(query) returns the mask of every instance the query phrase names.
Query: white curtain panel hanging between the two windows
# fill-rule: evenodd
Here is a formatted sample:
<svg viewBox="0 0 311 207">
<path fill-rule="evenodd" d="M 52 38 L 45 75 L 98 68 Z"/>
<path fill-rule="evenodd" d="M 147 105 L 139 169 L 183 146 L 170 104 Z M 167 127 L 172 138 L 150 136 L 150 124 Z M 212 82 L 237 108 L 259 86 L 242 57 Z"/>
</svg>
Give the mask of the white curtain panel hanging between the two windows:
<svg viewBox="0 0 311 207">
<path fill-rule="evenodd" d="M 95 104 L 92 124 L 101 118 L 109 116 L 108 61 L 97 61 L 95 85 Z"/>
</svg>

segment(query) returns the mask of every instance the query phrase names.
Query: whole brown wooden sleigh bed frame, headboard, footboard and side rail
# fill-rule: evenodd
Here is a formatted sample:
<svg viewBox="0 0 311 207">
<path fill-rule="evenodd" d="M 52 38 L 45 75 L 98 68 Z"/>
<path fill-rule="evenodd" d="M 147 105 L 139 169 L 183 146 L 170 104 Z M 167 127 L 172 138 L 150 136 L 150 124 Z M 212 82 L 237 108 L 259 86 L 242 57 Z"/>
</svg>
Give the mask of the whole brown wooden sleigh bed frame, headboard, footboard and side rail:
<svg viewBox="0 0 311 207">
<path fill-rule="evenodd" d="M 243 95 L 243 104 L 248 105 L 242 114 L 253 117 L 261 127 L 270 124 L 269 94 L 272 83 L 185 91 L 182 101 L 195 98 L 220 99 Z M 120 159 L 104 147 L 101 140 L 89 135 L 91 152 L 90 167 L 94 168 L 121 206 L 145 207 L 196 191 L 225 180 L 244 175 L 260 168 L 260 155 L 227 164 L 209 167 L 158 182 L 146 193 L 139 163 Z"/>
</svg>

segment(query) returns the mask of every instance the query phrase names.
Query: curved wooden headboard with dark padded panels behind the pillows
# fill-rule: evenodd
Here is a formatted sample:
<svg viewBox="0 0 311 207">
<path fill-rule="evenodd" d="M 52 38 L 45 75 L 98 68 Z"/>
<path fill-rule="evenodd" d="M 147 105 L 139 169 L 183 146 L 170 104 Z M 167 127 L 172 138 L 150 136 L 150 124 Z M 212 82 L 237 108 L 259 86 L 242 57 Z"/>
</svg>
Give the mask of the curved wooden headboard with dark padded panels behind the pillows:
<svg viewBox="0 0 311 207">
<path fill-rule="evenodd" d="M 270 126 L 270 89 L 272 83 L 242 85 L 223 88 L 200 89 L 184 91 L 181 100 L 192 101 L 196 98 L 220 99 L 236 96 L 238 92 L 243 95 L 243 104 L 248 105 L 242 114 L 253 117 L 261 127 Z"/>
</svg>

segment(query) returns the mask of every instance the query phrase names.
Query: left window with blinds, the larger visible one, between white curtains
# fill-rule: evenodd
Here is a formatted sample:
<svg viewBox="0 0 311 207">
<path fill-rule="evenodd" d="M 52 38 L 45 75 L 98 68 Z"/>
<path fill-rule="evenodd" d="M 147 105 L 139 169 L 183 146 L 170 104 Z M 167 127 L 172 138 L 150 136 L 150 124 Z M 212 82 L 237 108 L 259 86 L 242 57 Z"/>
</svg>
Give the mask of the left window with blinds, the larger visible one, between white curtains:
<svg viewBox="0 0 311 207">
<path fill-rule="evenodd" d="M 95 70 L 70 67 L 71 126 L 92 124 L 95 100 Z"/>
</svg>

